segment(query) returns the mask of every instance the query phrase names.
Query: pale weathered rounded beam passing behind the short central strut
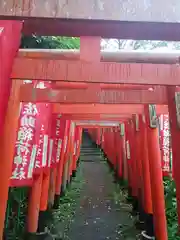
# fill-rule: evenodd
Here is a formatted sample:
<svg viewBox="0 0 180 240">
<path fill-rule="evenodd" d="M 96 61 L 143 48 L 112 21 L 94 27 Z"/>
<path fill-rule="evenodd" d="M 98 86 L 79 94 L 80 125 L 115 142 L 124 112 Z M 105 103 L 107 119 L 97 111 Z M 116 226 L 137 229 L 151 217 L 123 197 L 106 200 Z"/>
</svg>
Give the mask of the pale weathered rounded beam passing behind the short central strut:
<svg viewBox="0 0 180 240">
<path fill-rule="evenodd" d="M 81 42 L 82 43 L 82 42 Z M 89 48 L 88 48 L 89 49 Z M 177 64 L 180 51 L 101 50 L 101 62 Z M 20 49 L 17 58 L 80 60 L 79 49 Z M 81 59 L 82 60 L 82 59 Z"/>
</svg>

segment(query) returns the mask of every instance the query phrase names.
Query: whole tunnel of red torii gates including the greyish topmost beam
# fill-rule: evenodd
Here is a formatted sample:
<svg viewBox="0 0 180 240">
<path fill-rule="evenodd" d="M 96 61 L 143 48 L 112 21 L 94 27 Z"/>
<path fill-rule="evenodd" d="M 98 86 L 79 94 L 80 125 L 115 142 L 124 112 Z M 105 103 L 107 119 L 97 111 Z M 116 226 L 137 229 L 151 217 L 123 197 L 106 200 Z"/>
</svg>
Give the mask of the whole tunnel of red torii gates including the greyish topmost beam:
<svg viewBox="0 0 180 240">
<path fill-rule="evenodd" d="M 175 181 L 180 225 L 180 54 L 106 52 L 100 43 L 179 41 L 180 3 L 63 2 L 0 3 L 0 240 L 10 187 L 30 187 L 26 239 L 41 233 L 42 214 L 57 208 L 78 168 L 83 129 L 128 182 L 142 239 L 167 240 L 163 175 Z M 80 37 L 80 49 L 19 49 L 22 34 Z"/>
</svg>

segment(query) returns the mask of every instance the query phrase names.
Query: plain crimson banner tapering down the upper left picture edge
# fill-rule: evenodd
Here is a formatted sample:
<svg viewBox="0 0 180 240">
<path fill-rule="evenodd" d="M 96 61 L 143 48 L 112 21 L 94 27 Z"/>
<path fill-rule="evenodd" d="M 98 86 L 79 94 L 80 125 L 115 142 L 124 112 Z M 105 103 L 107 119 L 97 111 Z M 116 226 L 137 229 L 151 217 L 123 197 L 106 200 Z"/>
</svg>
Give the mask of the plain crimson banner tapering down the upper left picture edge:
<svg viewBox="0 0 180 240">
<path fill-rule="evenodd" d="M 0 20 L 0 135 L 6 116 L 14 58 L 21 40 L 22 22 Z"/>
</svg>

